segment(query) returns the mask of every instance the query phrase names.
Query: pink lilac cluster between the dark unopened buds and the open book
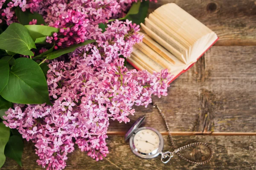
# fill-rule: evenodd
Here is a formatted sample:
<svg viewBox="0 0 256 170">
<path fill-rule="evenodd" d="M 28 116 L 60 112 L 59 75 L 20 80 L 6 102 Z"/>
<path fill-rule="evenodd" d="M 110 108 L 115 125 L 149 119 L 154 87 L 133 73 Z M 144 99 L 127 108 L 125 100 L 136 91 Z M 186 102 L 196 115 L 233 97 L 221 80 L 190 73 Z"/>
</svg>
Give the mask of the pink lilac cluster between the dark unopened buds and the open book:
<svg viewBox="0 0 256 170">
<path fill-rule="evenodd" d="M 108 24 L 104 33 L 98 25 L 90 28 L 87 37 L 96 40 L 97 44 L 77 49 L 72 55 L 74 57 L 83 55 L 88 65 L 96 67 L 102 63 L 111 63 L 121 55 L 130 57 L 132 46 L 143 39 L 143 36 L 138 34 L 139 26 L 128 20 L 124 22 L 116 20 Z M 90 51 L 90 53 L 84 53 L 84 51 Z"/>
</svg>

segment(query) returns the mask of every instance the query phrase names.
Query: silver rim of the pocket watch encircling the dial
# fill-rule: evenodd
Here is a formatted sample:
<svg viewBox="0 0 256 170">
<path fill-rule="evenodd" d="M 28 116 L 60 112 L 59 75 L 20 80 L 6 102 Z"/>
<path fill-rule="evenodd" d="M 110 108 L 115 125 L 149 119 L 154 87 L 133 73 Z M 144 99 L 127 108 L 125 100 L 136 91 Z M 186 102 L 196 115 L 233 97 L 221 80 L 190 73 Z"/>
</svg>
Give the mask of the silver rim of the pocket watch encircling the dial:
<svg viewBox="0 0 256 170">
<path fill-rule="evenodd" d="M 143 129 L 150 129 L 150 130 L 153 130 L 155 133 L 157 133 L 157 135 L 159 136 L 159 146 L 157 149 L 153 150 L 151 153 L 142 153 L 140 152 L 139 150 L 137 150 L 137 148 L 135 147 L 134 145 L 134 136 L 137 132 L 139 132 L 140 130 L 143 130 Z M 160 153 L 162 153 L 162 150 L 163 150 L 163 136 L 161 135 L 161 133 L 154 129 L 153 127 L 140 127 L 140 128 L 136 128 L 132 135 L 130 136 L 130 147 L 131 147 L 131 150 L 132 152 L 141 157 L 141 158 L 145 158 L 145 159 L 152 159 L 152 158 L 155 158 L 157 157 Z"/>
</svg>

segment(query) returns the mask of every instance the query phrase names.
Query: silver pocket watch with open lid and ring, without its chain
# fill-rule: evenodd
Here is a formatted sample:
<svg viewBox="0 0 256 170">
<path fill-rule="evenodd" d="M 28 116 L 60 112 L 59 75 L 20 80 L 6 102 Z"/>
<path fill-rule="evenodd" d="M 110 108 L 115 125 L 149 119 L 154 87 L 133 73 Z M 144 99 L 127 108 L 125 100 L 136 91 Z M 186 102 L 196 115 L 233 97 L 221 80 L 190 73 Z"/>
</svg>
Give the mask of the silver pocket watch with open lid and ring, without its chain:
<svg viewBox="0 0 256 170">
<path fill-rule="evenodd" d="M 145 116 L 141 116 L 125 134 L 125 141 L 130 139 L 132 152 L 145 159 L 155 158 L 161 154 L 161 161 L 167 163 L 173 156 L 172 152 L 163 153 L 163 136 L 153 127 L 139 127 Z"/>
</svg>

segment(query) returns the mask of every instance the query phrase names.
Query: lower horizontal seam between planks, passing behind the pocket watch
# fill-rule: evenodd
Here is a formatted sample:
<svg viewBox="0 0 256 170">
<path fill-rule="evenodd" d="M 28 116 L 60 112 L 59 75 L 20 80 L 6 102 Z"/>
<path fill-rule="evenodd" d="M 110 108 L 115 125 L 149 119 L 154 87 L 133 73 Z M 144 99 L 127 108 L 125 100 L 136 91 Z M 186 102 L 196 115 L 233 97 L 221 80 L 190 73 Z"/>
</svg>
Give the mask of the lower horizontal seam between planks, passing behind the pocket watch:
<svg viewBox="0 0 256 170">
<path fill-rule="evenodd" d="M 126 132 L 107 132 L 107 135 L 121 135 L 124 136 Z M 160 132 L 162 135 L 168 135 L 168 132 Z M 172 136 L 195 136 L 195 135 L 209 135 L 209 136 L 256 136 L 256 132 L 171 132 Z"/>
</svg>

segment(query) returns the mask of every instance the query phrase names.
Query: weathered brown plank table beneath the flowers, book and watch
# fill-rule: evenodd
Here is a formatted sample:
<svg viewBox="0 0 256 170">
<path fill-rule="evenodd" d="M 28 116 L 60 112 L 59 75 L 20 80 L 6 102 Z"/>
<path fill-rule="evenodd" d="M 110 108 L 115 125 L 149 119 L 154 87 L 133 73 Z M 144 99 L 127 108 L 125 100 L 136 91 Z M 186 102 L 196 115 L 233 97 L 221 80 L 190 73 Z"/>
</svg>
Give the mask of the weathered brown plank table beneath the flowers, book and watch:
<svg viewBox="0 0 256 170">
<path fill-rule="evenodd" d="M 66 169 L 72 170 L 255 170 L 256 169 L 256 1 L 255 0 L 158 0 L 150 3 L 149 12 L 175 2 L 206 26 L 220 39 L 185 74 L 172 82 L 168 96 L 157 99 L 166 113 L 176 147 L 191 142 L 207 142 L 214 149 L 211 162 L 189 164 L 174 156 L 168 164 L 157 159 L 140 159 L 131 153 L 124 134 L 131 124 L 146 115 L 146 126 L 164 135 L 164 150 L 172 150 L 166 127 L 156 109 L 134 107 L 131 123 L 111 122 L 109 155 L 94 161 L 77 147 L 68 156 Z M 205 159 L 204 147 L 183 152 L 194 160 Z M 36 163 L 32 143 L 25 142 L 23 167 L 7 159 L 3 170 L 42 169 Z"/>
</svg>

